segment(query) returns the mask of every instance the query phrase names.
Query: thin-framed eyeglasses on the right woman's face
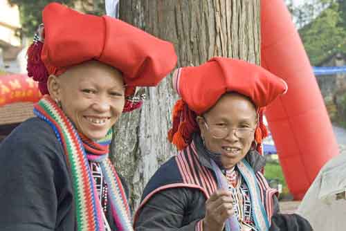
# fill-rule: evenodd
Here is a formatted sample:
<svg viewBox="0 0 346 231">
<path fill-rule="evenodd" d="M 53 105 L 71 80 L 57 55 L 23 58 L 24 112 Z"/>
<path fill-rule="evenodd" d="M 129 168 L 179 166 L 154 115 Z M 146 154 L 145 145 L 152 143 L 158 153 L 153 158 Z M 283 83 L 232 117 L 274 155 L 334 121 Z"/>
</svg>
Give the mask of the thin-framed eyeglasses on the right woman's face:
<svg viewBox="0 0 346 231">
<path fill-rule="evenodd" d="M 208 125 L 206 118 L 202 118 L 204 120 L 204 124 L 206 124 L 206 128 L 215 139 L 224 139 L 230 134 L 231 131 L 235 132 L 235 136 L 237 136 L 237 138 L 244 139 L 251 136 L 251 134 L 255 131 L 255 129 L 252 129 L 250 127 L 230 128 L 228 126 L 221 126 L 216 124 Z"/>
</svg>

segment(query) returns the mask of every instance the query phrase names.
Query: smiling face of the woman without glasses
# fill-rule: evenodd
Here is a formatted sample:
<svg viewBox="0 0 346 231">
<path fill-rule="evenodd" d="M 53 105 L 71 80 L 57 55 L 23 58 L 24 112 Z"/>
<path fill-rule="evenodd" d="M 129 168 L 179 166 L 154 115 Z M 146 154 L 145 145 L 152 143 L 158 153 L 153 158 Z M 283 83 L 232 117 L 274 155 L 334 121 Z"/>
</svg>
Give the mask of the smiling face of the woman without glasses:
<svg viewBox="0 0 346 231">
<path fill-rule="evenodd" d="M 48 78 L 48 91 L 84 136 L 98 140 L 118 120 L 125 104 L 122 75 L 98 61 L 84 62 Z"/>
</svg>

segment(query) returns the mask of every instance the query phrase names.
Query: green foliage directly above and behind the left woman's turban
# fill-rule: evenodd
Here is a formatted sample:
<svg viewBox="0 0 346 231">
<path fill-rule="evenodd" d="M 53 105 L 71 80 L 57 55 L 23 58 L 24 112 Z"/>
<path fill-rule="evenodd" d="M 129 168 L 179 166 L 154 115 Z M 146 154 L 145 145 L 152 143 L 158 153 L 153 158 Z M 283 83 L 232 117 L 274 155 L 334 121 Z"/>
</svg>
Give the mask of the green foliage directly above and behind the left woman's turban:
<svg viewBox="0 0 346 231">
<path fill-rule="evenodd" d="M 8 0 L 8 3 L 19 7 L 21 31 L 17 35 L 33 37 L 39 24 L 42 23 L 42 10 L 51 2 L 63 3 L 82 12 L 93 15 L 104 15 L 104 0 Z"/>
</svg>

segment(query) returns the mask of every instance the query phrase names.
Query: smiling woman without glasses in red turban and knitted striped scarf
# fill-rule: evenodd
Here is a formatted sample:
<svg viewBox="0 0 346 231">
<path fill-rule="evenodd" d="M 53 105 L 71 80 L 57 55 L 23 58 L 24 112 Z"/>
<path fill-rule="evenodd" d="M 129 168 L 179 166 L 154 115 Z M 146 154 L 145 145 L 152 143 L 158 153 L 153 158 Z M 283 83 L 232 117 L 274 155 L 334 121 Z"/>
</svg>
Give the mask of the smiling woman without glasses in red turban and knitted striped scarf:
<svg viewBox="0 0 346 231">
<path fill-rule="evenodd" d="M 132 230 L 125 185 L 108 158 L 111 127 L 140 106 L 136 86 L 155 86 L 174 68 L 174 48 L 58 3 L 44 8 L 43 22 L 28 75 L 44 97 L 37 117 L 0 146 L 0 230 Z"/>
</svg>

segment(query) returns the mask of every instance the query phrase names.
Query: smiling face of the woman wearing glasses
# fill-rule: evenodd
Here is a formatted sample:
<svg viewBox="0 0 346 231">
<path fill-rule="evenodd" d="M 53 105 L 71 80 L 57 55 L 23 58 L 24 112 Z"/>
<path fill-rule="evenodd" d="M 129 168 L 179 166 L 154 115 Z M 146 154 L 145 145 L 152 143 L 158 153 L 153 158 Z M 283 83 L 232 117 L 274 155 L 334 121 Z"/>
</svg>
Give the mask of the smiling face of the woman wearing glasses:
<svg viewBox="0 0 346 231">
<path fill-rule="evenodd" d="M 226 93 L 203 117 L 197 117 L 197 122 L 206 148 L 221 154 L 222 165 L 225 169 L 231 169 L 251 148 L 257 113 L 253 103 L 244 95 Z M 230 132 L 225 138 L 215 138 L 210 127 L 228 129 Z M 239 138 L 234 129 L 247 130 L 246 135 Z"/>
</svg>

